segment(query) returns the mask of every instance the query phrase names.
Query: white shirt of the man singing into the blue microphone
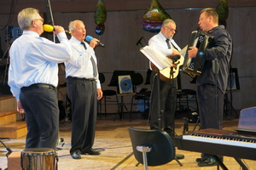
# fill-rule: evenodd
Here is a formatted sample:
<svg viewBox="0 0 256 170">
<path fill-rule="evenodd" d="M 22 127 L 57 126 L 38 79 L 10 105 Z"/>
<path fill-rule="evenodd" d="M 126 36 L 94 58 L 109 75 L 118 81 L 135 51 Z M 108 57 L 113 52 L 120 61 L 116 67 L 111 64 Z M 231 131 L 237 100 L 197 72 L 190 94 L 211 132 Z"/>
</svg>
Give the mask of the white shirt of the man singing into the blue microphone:
<svg viewBox="0 0 256 170">
<path fill-rule="evenodd" d="M 96 80 L 96 87 L 101 88 L 99 74 L 96 77 L 93 76 L 93 65 L 90 60 L 92 57 L 97 65 L 94 49 L 84 42 L 87 48 L 85 50 L 84 45 L 75 37 L 71 37 L 69 42 L 72 45 L 72 59 L 65 62 L 66 77 L 92 78 Z"/>
</svg>

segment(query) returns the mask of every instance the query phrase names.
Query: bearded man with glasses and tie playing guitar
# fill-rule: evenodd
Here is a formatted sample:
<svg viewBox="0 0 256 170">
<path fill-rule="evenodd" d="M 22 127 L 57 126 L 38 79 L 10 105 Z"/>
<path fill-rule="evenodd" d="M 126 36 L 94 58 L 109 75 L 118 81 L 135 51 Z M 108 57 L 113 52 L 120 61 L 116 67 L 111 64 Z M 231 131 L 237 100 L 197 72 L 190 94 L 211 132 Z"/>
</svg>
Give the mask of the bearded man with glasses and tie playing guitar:
<svg viewBox="0 0 256 170">
<path fill-rule="evenodd" d="M 173 56 L 179 54 L 181 49 L 174 42 L 172 37 L 176 33 L 176 24 L 171 19 L 164 20 L 160 32 L 154 37 L 151 37 L 148 41 L 148 46 L 151 48 L 157 48 L 161 53 L 166 56 Z M 150 68 L 152 69 L 153 66 Z M 160 80 L 160 88 L 158 88 L 159 77 L 157 72 L 152 71 L 151 74 L 151 103 L 150 103 L 150 129 L 161 129 L 170 134 L 172 139 L 174 138 L 174 115 L 177 103 L 177 79 L 173 78 L 172 81 L 164 82 Z M 158 91 L 158 89 L 160 91 Z M 160 93 L 160 113 L 158 109 L 158 93 Z M 163 122 L 163 126 L 160 126 L 160 119 Z M 182 156 L 183 157 L 183 156 Z M 177 158 L 182 158 L 177 156 Z"/>
</svg>

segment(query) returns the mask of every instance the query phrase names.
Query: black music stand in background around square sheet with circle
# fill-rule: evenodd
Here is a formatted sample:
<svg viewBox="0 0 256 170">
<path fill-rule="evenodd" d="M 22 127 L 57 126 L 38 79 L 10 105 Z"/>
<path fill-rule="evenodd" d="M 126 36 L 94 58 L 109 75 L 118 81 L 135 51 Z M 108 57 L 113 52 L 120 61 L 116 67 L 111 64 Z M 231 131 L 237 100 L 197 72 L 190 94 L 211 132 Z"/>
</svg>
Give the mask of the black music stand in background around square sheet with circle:
<svg viewBox="0 0 256 170">
<path fill-rule="evenodd" d="M 119 118 L 123 118 L 124 113 L 124 95 L 130 95 L 130 94 L 119 94 L 119 76 L 125 76 L 130 75 L 131 76 L 131 82 L 133 78 L 135 77 L 135 71 L 113 71 L 113 76 L 108 84 L 110 87 L 117 87 L 118 96 L 121 97 L 121 102 L 119 103 Z M 134 94 L 134 93 L 131 93 Z M 127 107 L 125 106 L 126 111 L 128 111 Z"/>
</svg>

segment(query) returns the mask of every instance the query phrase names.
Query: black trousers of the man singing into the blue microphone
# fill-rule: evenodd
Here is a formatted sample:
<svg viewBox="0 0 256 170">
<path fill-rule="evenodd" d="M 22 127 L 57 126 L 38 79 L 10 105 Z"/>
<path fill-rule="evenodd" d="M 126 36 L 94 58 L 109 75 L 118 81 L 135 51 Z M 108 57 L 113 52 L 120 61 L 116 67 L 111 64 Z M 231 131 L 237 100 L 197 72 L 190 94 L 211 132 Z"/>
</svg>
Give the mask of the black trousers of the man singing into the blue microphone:
<svg viewBox="0 0 256 170">
<path fill-rule="evenodd" d="M 97 116 L 96 81 L 67 77 L 67 94 L 72 105 L 71 150 L 85 152 L 94 144 Z"/>
</svg>

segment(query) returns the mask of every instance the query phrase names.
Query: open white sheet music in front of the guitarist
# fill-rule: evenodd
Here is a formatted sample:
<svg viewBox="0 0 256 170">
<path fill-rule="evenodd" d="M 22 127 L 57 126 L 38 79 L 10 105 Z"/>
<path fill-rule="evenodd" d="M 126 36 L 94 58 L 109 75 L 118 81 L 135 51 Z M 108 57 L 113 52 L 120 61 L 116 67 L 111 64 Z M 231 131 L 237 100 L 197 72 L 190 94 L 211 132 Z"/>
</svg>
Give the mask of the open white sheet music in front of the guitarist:
<svg viewBox="0 0 256 170">
<path fill-rule="evenodd" d="M 161 71 L 166 67 L 171 67 L 172 62 L 162 54 L 157 48 L 145 46 L 140 51 Z"/>
</svg>

